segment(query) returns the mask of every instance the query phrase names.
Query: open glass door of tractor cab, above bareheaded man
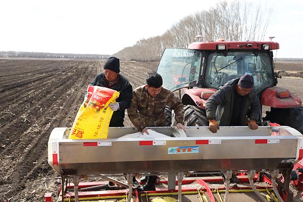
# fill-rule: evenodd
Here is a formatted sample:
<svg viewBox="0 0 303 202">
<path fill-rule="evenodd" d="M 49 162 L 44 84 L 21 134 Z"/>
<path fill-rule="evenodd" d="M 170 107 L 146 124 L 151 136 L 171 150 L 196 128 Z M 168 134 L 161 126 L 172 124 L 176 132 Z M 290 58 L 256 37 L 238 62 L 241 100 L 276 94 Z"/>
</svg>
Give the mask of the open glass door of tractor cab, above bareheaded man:
<svg viewBox="0 0 303 202">
<path fill-rule="evenodd" d="M 163 78 L 163 86 L 174 91 L 197 84 L 201 54 L 183 48 L 166 48 L 157 72 Z"/>
</svg>

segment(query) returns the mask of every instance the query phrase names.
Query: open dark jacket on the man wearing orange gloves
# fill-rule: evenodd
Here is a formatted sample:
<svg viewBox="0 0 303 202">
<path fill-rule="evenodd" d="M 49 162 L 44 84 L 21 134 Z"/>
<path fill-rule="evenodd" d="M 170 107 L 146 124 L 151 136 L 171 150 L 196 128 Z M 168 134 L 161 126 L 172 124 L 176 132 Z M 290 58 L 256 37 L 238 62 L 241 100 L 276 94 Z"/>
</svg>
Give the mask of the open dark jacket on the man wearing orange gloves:
<svg viewBox="0 0 303 202">
<path fill-rule="evenodd" d="M 235 87 L 239 79 L 228 81 L 220 86 L 206 102 L 206 115 L 209 120 L 216 119 L 220 126 L 229 126 L 232 112 Z M 239 106 L 240 107 L 240 106 Z M 247 125 L 246 116 L 250 120 L 258 121 L 261 114 L 261 107 L 255 89 L 244 96 L 242 110 L 239 115 L 239 125 Z"/>
</svg>

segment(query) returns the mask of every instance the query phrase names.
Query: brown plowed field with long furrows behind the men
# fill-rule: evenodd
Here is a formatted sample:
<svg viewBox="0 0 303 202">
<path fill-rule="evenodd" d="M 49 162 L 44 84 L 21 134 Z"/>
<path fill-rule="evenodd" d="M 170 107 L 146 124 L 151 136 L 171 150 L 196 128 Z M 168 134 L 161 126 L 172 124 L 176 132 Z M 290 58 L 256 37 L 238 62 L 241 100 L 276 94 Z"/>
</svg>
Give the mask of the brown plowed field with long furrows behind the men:
<svg viewBox="0 0 303 202">
<path fill-rule="evenodd" d="M 49 134 L 72 126 L 84 90 L 103 64 L 0 60 L 0 201 L 43 201 L 45 192 L 57 191 L 57 175 L 47 164 Z M 156 66 L 122 61 L 121 73 L 137 87 Z M 302 78 L 284 77 L 278 85 L 303 99 Z"/>
</svg>

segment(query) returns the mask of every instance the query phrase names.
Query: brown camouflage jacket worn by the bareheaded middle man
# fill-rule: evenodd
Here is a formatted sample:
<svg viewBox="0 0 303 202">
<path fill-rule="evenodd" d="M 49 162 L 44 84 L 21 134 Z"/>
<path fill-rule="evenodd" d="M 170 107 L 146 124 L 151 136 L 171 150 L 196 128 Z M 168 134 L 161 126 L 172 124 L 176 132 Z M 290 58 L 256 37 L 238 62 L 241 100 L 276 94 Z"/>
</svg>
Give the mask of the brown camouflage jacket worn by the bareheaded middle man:
<svg viewBox="0 0 303 202">
<path fill-rule="evenodd" d="M 174 110 L 176 122 L 183 124 L 183 104 L 172 91 L 166 88 L 162 88 L 156 97 L 152 97 L 145 85 L 137 87 L 133 90 L 131 105 L 127 109 L 127 114 L 139 131 L 145 126 L 166 126 L 165 106 Z"/>
</svg>

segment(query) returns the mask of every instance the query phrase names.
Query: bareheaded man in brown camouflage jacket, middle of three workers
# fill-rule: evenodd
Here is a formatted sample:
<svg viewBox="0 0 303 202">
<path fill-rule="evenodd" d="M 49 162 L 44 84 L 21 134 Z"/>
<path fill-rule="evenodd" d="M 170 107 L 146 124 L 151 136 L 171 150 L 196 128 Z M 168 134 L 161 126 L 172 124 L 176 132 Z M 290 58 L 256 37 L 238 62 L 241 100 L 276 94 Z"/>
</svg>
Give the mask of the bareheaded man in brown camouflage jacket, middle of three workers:
<svg viewBox="0 0 303 202">
<path fill-rule="evenodd" d="M 183 126 L 184 110 L 181 100 L 174 93 L 162 87 L 162 77 L 154 72 L 148 75 L 146 84 L 133 90 L 130 107 L 127 114 L 130 121 L 138 131 L 146 133 L 148 126 L 166 126 L 165 106 L 169 106 L 175 112 L 177 127 L 185 131 Z M 147 176 L 144 185 L 137 188 L 138 191 L 156 190 L 156 175 Z"/>
</svg>

